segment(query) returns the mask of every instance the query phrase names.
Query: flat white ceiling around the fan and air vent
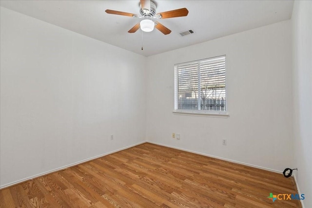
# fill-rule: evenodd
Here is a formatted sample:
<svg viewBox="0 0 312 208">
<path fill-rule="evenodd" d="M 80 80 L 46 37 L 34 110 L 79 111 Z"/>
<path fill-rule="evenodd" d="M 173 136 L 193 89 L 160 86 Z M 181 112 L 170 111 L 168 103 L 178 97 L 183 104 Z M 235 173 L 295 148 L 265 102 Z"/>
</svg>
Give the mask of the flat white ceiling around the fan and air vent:
<svg viewBox="0 0 312 208">
<path fill-rule="evenodd" d="M 0 5 L 126 50 L 151 56 L 256 27 L 291 19 L 293 0 L 156 0 L 156 12 L 186 7 L 187 17 L 158 19 L 172 30 L 127 31 L 140 19 L 106 14 L 106 9 L 139 14 L 139 0 L 1 0 Z M 179 32 L 194 30 L 180 37 Z"/>
</svg>

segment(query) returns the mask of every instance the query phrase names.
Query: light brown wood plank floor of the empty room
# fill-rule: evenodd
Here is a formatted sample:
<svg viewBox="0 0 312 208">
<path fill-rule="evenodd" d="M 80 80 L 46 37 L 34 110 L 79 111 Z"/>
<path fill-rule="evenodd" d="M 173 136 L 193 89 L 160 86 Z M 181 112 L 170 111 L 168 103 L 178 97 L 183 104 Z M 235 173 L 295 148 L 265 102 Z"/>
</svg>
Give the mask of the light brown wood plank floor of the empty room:
<svg viewBox="0 0 312 208">
<path fill-rule="evenodd" d="M 293 178 L 150 143 L 0 190 L 0 207 L 298 207 Z"/>
</svg>

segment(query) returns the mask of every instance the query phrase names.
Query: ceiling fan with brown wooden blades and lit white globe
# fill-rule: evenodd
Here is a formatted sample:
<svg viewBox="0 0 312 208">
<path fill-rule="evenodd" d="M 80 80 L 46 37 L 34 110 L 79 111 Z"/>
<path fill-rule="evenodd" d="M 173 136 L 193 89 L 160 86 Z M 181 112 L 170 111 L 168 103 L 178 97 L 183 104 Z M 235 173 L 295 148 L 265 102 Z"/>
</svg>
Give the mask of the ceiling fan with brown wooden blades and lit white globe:
<svg viewBox="0 0 312 208">
<path fill-rule="evenodd" d="M 189 11 L 186 8 L 171 10 L 167 12 L 161 12 L 156 14 L 156 3 L 153 0 L 140 0 L 140 14 L 132 14 L 127 12 L 119 12 L 115 10 L 107 9 L 105 10 L 108 14 L 113 15 L 122 15 L 133 18 L 142 19 L 139 23 L 137 23 L 133 28 L 131 28 L 128 33 L 135 33 L 139 28 L 141 28 L 144 32 L 151 32 L 154 30 L 154 27 L 162 32 L 164 35 L 168 35 L 171 33 L 164 25 L 160 24 L 158 21 L 154 19 L 167 19 L 167 18 L 177 18 L 187 16 Z"/>
</svg>

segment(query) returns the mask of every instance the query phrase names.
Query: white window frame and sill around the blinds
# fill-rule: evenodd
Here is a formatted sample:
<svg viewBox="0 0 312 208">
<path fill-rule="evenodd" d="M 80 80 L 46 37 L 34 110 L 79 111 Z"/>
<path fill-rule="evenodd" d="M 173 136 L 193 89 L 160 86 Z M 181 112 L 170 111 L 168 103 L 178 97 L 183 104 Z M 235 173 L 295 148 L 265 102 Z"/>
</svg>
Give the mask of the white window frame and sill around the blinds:
<svg viewBox="0 0 312 208">
<path fill-rule="evenodd" d="M 213 60 L 216 58 L 225 58 L 225 111 L 214 111 L 214 110 L 195 110 L 195 109 L 178 109 L 178 66 L 179 65 L 185 65 L 185 64 L 199 64 L 200 62 Z M 227 99 L 227 65 L 226 65 L 227 57 L 226 55 L 222 56 L 216 56 L 216 57 L 209 57 L 194 61 L 188 61 L 188 62 L 182 62 L 177 63 L 174 65 L 174 114 L 178 115 L 194 115 L 194 116 L 212 116 L 212 117 L 228 117 L 229 111 L 228 111 L 228 99 Z"/>
</svg>

